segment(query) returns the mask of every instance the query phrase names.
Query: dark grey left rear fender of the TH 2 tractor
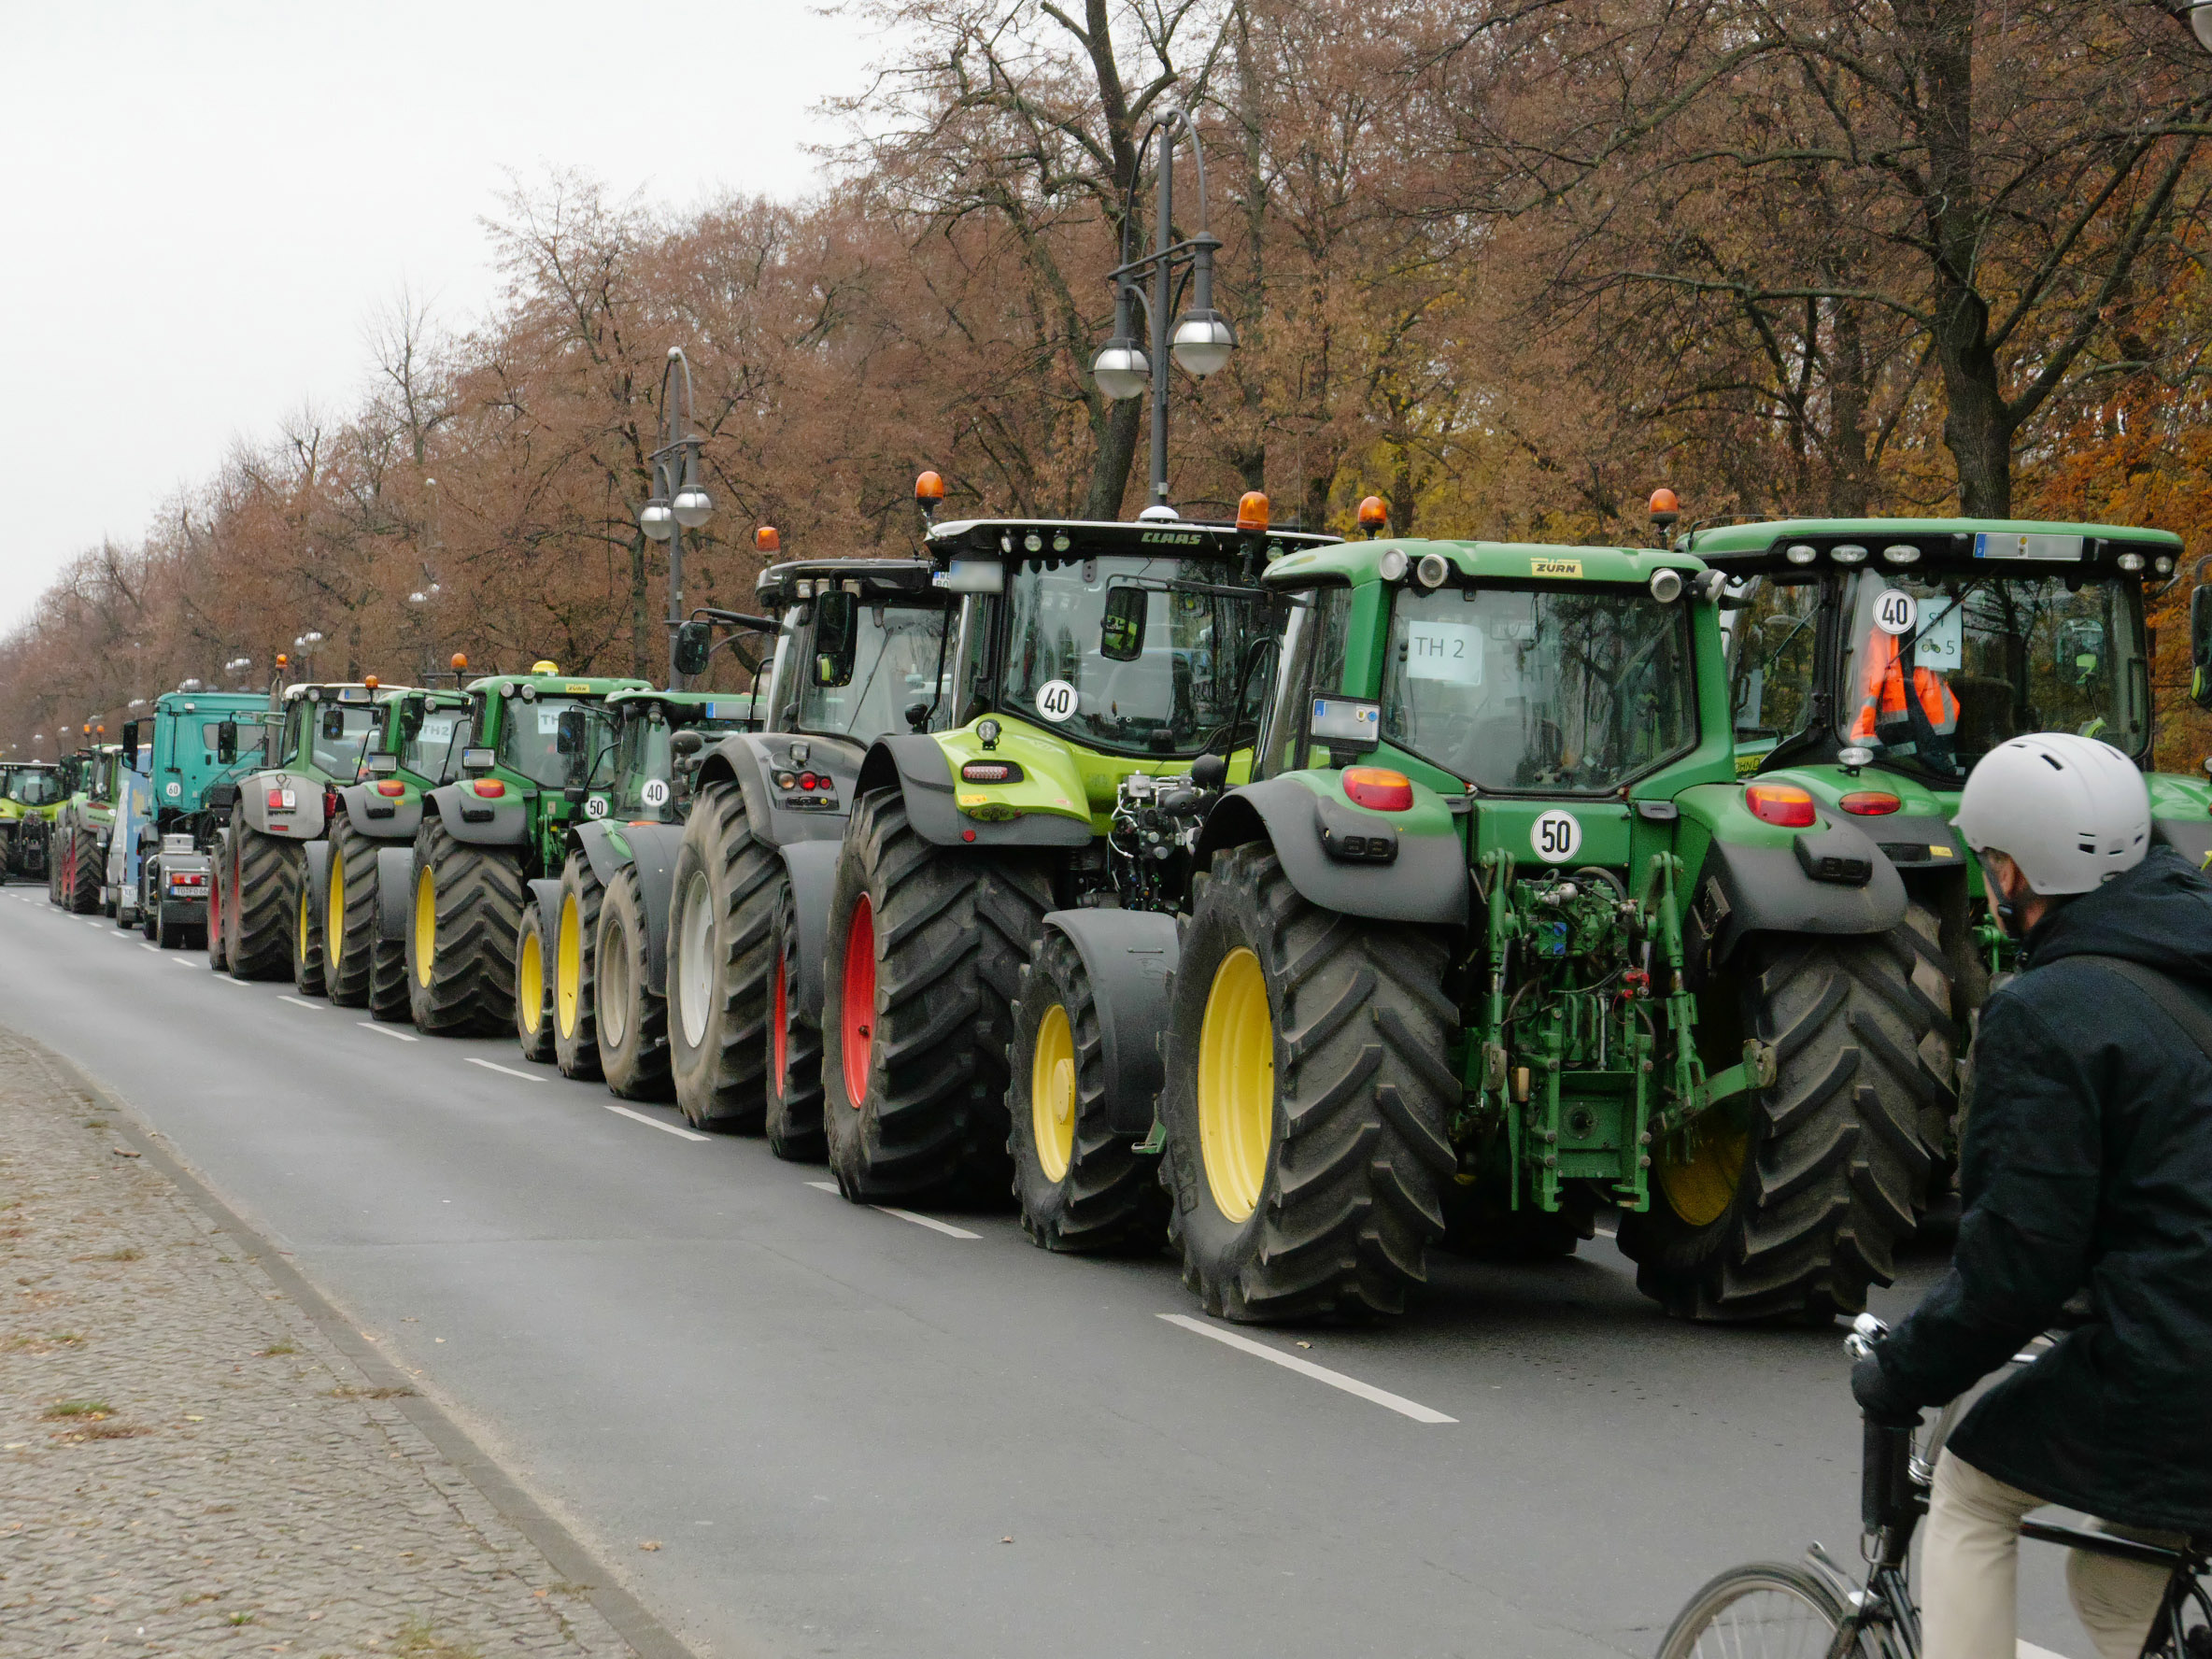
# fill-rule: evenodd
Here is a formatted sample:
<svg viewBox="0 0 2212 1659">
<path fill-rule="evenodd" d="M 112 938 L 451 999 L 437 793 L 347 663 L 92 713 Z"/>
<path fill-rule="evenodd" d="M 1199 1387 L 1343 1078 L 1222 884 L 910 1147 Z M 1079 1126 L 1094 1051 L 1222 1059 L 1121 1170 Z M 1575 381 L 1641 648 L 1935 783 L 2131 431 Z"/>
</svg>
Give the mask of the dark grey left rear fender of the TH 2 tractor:
<svg viewBox="0 0 2212 1659">
<path fill-rule="evenodd" d="M 1338 863 L 1321 845 L 1323 812 L 1321 796 L 1292 779 L 1230 790 L 1206 814 L 1197 867 L 1206 869 L 1221 847 L 1267 841 L 1310 905 L 1378 922 L 1467 927 L 1467 847 L 1458 834 L 1400 834 L 1398 856 L 1387 865 Z M 1343 814 L 1349 818 L 1354 807 Z M 1389 825 L 1383 814 L 1358 816 Z"/>
</svg>

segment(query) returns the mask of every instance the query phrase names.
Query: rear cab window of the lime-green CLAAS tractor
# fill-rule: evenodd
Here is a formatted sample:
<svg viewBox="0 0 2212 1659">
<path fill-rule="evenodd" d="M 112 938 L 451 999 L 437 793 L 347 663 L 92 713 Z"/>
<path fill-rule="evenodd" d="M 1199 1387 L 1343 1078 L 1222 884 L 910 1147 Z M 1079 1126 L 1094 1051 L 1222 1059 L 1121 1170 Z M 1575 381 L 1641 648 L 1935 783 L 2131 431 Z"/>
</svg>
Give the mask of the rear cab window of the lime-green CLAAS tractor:
<svg viewBox="0 0 2212 1659">
<path fill-rule="evenodd" d="M 1108 586 L 1223 582 L 1219 560 L 1093 557 L 1006 566 L 1006 684 L 1015 714 L 1124 754 L 1203 754 L 1241 714 L 1237 681 L 1256 639 L 1248 599 L 1146 593 L 1128 661 L 1099 639 Z M 1261 692 L 1254 672 L 1248 699 Z"/>
</svg>

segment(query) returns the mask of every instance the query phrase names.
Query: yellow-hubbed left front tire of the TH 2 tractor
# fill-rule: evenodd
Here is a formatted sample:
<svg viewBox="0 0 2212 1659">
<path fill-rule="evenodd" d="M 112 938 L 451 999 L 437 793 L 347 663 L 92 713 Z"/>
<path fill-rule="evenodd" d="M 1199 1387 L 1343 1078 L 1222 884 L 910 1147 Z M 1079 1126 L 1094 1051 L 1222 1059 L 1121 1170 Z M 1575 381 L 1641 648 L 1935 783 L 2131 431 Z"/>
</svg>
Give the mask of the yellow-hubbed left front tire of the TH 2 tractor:
<svg viewBox="0 0 2212 1659">
<path fill-rule="evenodd" d="M 1106 1126 L 1106 1046 L 1084 958 L 1046 933 L 1013 1004 L 1006 1157 L 1022 1230 L 1044 1250 L 1157 1252 L 1168 1241 L 1159 1159 Z"/>
</svg>

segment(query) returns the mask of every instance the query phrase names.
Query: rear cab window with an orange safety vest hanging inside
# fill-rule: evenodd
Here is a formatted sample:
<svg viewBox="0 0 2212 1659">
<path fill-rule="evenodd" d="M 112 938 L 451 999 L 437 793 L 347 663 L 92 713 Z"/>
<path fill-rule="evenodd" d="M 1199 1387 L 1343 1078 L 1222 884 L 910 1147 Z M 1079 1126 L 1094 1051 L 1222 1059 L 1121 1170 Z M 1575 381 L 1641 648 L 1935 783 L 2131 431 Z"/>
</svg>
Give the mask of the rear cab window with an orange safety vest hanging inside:
<svg viewBox="0 0 2212 1659">
<path fill-rule="evenodd" d="M 2006 739 L 2148 741 L 2150 670 L 2132 580 L 1986 568 L 1865 571 L 1851 584 L 1845 743 L 1958 785 Z"/>
</svg>

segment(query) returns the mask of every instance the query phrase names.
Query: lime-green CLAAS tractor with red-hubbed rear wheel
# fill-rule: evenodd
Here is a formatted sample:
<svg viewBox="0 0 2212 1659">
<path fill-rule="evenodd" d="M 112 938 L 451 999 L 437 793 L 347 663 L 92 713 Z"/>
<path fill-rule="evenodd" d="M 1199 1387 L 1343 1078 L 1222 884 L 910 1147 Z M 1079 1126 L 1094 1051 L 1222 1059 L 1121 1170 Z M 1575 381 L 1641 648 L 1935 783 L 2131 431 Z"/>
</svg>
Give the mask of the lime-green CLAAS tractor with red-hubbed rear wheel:
<svg viewBox="0 0 2212 1659">
<path fill-rule="evenodd" d="M 1157 1245 L 1141 1126 L 1068 1141 L 1053 1119 L 1040 1159 L 1031 1115 L 1009 1124 L 1009 1044 L 1015 1073 L 1029 1064 L 1011 1006 L 1033 960 L 1060 956 L 1055 911 L 1088 922 L 1062 931 L 1073 951 L 1139 978 L 1159 967 L 1172 922 L 1144 909 L 1172 902 L 1188 854 L 1130 803 L 1188 792 L 1208 754 L 1219 783 L 1250 745 L 1276 655 L 1254 575 L 1332 540 L 1270 533 L 1256 495 L 1241 518 L 931 529 L 936 582 L 960 597 L 949 684 L 838 781 L 852 823 L 823 905 L 821 1110 L 847 1199 L 973 1203 L 1011 1175 L 1040 1243 Z M 1075 1046 L 1113 1048 L 1148 1102 L 1148 1033 L 1093 1029 L 1077 1006 L 1068 1026 Z"/>
</svg>

